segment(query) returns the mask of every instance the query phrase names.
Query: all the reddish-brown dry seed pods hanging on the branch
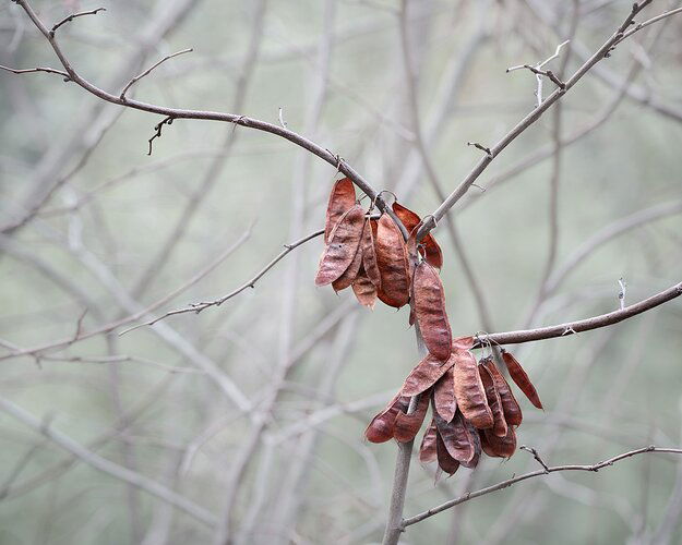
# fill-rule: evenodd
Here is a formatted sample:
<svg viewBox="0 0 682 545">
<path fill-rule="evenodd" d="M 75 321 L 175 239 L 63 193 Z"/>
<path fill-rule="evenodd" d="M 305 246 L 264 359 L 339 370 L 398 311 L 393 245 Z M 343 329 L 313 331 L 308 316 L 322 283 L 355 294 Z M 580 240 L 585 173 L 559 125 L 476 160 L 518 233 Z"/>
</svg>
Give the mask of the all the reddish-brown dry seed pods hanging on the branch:
<svg viewBox="0 0 682 545">
<path fill-rule="evenodd" d="M 387 214 L 379 219 L 370 217 L 371 208 L 366 214 L 350 180 L 337 181 L 330 196 L 325 249 L 315 277 L 318 286 L 331 283 L 336 291 L 352 287 L 358 301 L 370 308 L 376 299 L 396 308 L 410 303 L 409 323 L 417 323 L 429 351 L 364 435 L 372 443 L 410 441 L 431 405 L 431 423 L 419 451 L 422 463 L 438 462 L 440 470 L 452 475 L 459 465 L 475 468 L 481 452 L 508 458 L 516 450 L 521 407 L 492 358 L 476 361 L 474 337 L 453 339 L 439 274 L 441 249 L 431 234 L 417 242 L 421 226 L 417 214 L 397 202 L 392 208 L 410 233 L 407 241 Z M 512 380 L 542 409 L 521 364 L 511 353 L 501 353 Z"/>
</svg>

